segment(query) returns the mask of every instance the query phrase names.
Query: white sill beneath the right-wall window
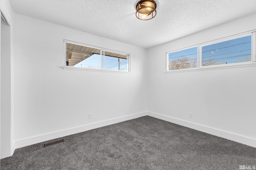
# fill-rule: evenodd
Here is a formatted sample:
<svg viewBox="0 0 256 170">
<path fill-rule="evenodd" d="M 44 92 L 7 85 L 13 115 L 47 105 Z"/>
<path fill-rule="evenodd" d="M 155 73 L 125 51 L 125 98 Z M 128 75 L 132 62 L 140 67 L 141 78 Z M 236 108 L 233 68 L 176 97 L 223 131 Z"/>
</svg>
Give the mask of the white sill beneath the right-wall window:
<svg viewBox="0 0 256 170">
<path fill-rule="evenodd" d="M 170 70 L 165 71 L 166 74 L 168 73 L 176 73 L 176 72 L 190 72 L 190 71 L 200 71 L 200 70 L 216 70 L 216 69 L 224 69 L 224 68 L 238 68 L 238 67 L 248 67 L 248 66 L 256 66 L 255 62 L 250 63 L 239 63 L 239 64 L 228 64 L 228 65 L 215 65 L 215 66 L 203 66 L 198 68 L 186 68 L 180 70 Z"/>
</svg>

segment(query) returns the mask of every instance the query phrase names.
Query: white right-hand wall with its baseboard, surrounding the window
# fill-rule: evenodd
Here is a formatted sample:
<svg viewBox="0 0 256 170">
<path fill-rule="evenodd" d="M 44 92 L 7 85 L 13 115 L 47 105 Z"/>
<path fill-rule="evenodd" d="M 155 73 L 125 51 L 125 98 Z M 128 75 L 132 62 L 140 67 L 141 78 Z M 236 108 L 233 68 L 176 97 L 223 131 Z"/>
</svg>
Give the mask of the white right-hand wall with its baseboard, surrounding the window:
<svg viewBox="0 0 256 170">
<path fill-rule="evenodd" d="M 166 52 L 256 29 L 255 18 L 256 14 L 149 49 L 150 115 L 256 147 L 256 66 L 164 73 Z"/>
</svg>

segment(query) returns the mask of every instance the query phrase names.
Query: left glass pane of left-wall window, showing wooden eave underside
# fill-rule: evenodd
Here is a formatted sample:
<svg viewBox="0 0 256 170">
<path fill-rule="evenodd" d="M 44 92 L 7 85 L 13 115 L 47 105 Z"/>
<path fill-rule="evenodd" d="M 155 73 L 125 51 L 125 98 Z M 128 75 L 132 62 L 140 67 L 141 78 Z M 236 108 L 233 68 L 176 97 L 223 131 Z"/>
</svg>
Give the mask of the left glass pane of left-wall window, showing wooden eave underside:
<svg viewBox="0 0 256 170">
<path fill-rule="evenodd" d="M 100 49 L 66 43 L 66 65 L 100 68 Z"/>
</svg>

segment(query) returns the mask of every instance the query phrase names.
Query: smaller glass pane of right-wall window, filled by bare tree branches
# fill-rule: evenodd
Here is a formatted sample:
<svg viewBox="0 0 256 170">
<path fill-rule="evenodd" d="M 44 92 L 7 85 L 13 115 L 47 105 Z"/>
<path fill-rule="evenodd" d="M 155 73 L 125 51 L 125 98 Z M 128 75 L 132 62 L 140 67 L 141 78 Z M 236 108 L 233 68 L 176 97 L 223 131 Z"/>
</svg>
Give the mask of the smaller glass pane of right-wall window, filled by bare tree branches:
<svg viewBox="0 0 256 170">
<path fill-rule="evenodd" d="M 168 53 L 168 70 L 197 67 L 197 47 Z"/>
</svg>

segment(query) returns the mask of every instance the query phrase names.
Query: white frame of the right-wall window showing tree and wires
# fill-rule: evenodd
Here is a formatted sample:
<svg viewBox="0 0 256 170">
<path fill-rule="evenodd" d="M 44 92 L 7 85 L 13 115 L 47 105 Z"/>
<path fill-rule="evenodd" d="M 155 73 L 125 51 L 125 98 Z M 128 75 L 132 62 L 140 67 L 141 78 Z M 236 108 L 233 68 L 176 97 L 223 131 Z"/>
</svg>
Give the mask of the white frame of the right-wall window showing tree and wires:
<svg viewBox="0 0 256 170">
<path fill-rule="evenodd" d="M 207 46 L 207 45 L 212 45 L 215 43 L 220 43 L 220 42 L 224 42 L 224 41 L 228 41 L 228 40 L 232 40 L 232 39 L 237 39 L 240 37 L 246 37 L 248 35 L 252 36 L 252 61 L 248 61 L 248 62 L 242 62 L 242 63 L 231 63 L 231 64 L 218 64 L 218 65 L 212 65 L 212 66 L 202 66 L 202 47 Z M 168 70 L 168 54 L 169 53 L 174 53 L 177 51 L 182 51 L 185 49 L 189 49 L 189 48 L 193 48 L 193 47 L 198 47 L 198 64 L 196 68 L 184 68 L 184 69 L 180 69 L 180 70 Z M 192 45 L 190 47 L 185 47 L 182 49 L 178 49 L 178 50 L 173 50 L 173 51 L 168 51 L 166 52 L 166 69 L 165 69 L 165 73 L 174 73 L 174 72 L 188 72 L 188 71 L 198 71 L 198 70 L 212 70 L 212 69 L 222 69 L 222 68 L 236 68 L 236 67 L 244 67 L 244 66 L 256 66 L 256 32 L 255 30 L 252 31 L 247 31 L 244 33 L 240 33 L 240 34 L 236 34 L 236 35 L 232 35 L 232 36 L 228 36 L 228 37 L 224 37 L 221 39 L 216 39 L 213 41 L 208 41 L 205 43 L 201 43 L 198 45 Z"/>
</svg>

